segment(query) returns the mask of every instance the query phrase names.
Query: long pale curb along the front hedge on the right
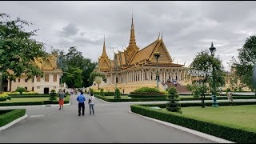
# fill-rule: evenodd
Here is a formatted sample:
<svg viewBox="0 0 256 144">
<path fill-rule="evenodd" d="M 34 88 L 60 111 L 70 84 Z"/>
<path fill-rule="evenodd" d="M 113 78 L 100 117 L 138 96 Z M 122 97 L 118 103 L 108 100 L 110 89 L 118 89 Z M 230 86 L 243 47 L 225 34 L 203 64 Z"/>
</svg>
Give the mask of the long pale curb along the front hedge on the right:
<svg viewBox="0 0 256 144">
<path fill-rule="evenodd" d="M 134 112 L 132 112 L 130 110 L 129 110 L 129 113 L 130 114 L 136 114 L 136 113 L 134 113 Z M 160 121 L 158 119 L 149 118 L 149 117 L 143 116 L 141 114 L 136 114 L 136 115 L 141 116 L 142 118 L 150 119 L 150 120 L 152 120 L 154 122 L 162 123 L 162 124 L 164 124 L 166 126 L 174 127 L 174 128 L 176 128 L 178 130 L 186 131 L 186 132 L 188 132 L 190 134 L 198 135 L 199 137 L 209 139 L 210 141 L 214 141 L 214 142 L 218 142 L 218 143 L 235 143 L 235 142 L 228 141 L 226 139 L 215 137 L 215 136 L 210 135 L 210 134 L 202 133 L 202 132 L 197 131 L 197 130 L 192 130 L 192 129 L 189 129 L 189 128 L 186 128 L 186 127 L 183 127 L 183 126 L 174 125 L 174 124 L 172 124 L 170 122 L 164 122 L 164 121 Z"/>
</svg>

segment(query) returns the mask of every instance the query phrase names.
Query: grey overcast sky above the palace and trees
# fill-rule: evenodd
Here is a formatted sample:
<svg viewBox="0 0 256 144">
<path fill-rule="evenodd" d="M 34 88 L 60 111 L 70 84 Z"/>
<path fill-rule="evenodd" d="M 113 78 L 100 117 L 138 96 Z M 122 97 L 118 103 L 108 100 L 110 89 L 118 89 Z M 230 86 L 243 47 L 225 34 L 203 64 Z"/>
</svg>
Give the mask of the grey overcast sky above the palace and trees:
<svg viewBox="0 0 256 144">
<path fill-rule="evenodd" d="M 238 56 L 250 35 L 256 33 L 256 2 L 0 2 L 0 13 L 34 23 L 35 37 L 55 49 L 76 46 L 85 58 L 98 61 L 104 34 L 106 53 L 123 51 L 130 39 L 131 15 L 137 45 L 144 48 L 162 32 L 175 63 L 188 66 L 211 42 L 225 70 Z"/>
</svg>

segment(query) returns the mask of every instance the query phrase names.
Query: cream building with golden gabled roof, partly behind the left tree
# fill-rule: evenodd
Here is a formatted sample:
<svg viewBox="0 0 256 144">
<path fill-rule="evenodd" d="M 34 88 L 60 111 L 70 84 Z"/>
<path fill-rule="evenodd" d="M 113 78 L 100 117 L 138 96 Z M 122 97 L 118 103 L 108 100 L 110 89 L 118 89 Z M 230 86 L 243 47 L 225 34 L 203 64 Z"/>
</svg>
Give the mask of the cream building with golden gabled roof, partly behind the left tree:
<svg viewBox="0 0 256 144">
<path fill-rule="evenodd" d="M 58 91 L 60 86 L 60 78 L 62 77 L 62 70 L 57 67 L 57 56 L 50 55 L 46 61 L 34 61 L 43 72 L 44 77 L 34 77 L 27 79 L 25 74 L 20 78 L 15 78 L 13 81 L 6 80 L 2 82 L 3 91 L 15 91 L 18 86 L 25 87 L 28 91 L 36 91 L 38 94 L 49 94 L 50 90 Z"/>
</svg>

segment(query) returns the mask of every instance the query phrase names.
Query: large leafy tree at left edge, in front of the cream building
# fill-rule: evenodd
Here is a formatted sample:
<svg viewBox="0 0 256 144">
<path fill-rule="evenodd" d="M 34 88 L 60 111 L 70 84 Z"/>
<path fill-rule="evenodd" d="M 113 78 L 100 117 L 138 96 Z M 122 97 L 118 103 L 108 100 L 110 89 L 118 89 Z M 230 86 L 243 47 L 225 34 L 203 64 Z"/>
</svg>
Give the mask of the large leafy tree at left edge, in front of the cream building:
<svg viewBox="0 0 256 144">
<path fill-rule="evenodd" d="M 0 73 L 10 79 L 10 86 L 11 81 L 22 74 L 28 79 L 43 75 L 34 65 L 34 58 L 46 58 L 46 52 L 42 42 L 31 38 L 37 30 L 25 30 L 25 26 L 31 25 L 21 18 L 11 20 L 8 14 L 0 14 Z"/>
</svg>

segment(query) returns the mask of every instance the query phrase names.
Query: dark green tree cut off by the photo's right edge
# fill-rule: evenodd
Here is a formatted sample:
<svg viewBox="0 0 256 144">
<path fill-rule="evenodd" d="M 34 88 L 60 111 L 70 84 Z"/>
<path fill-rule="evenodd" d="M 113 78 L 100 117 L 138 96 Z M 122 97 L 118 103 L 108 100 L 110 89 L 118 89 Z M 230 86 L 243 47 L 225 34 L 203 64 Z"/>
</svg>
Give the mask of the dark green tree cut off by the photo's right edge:
<svg viewBox="0 0 256 144">
<path fill-rule="evenodd" d="M 242 83 L 256 91 L 252 84 L 252 74 L 256 63 L 256 35 L 246 38 L 242 48 L 238 49 L 238 60 L 237 62 L 234 59 L 233 63 L 235 74 L 241 78 Z"/>
</svg>

